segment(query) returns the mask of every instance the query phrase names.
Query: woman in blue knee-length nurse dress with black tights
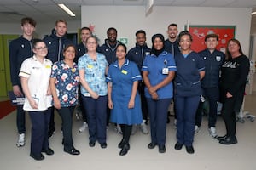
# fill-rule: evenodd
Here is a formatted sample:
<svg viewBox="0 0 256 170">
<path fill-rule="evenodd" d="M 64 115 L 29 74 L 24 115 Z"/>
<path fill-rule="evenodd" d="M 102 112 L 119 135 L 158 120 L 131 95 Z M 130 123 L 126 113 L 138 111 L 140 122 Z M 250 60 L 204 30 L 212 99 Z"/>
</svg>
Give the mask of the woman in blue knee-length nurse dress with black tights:
<svg viewBox="0 0 256 170">
<path fill-rule="evenodd" d="M 108 69 L 108 107 L 111 109 L 111 122 L 120 125 L 123 139 L 119 143 L 120 156 L 130 149 L 131 127 L 143 122 L 141 101 L 137 93 L 138 81 L 142 79 L 137 65 L 125 59 L 126 46 L 119 44 L 116 50 L 117 61 Z"/>
</svg>

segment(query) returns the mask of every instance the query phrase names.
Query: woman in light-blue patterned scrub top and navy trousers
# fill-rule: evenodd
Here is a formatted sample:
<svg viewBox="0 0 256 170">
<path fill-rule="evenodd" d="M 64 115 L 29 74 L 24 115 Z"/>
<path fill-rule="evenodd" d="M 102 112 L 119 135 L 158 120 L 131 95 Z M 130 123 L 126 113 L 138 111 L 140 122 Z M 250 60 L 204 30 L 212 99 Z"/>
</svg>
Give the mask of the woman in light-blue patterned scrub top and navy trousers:
<svg viewBox="0 0 256 170">
<path fill-rule="evenodd" d="M 89 128 L 89 145 L 94 147 L 96 141 L 102 149 L 107 148 L 106 120 L 108 89 L 106 75 L 108 61 L 105 55 L 97 53 L 96 37 L 88 37 L 87 53 L 79 58 L 79 77 L 82 102 L 87 114 Z"/>
</svg>

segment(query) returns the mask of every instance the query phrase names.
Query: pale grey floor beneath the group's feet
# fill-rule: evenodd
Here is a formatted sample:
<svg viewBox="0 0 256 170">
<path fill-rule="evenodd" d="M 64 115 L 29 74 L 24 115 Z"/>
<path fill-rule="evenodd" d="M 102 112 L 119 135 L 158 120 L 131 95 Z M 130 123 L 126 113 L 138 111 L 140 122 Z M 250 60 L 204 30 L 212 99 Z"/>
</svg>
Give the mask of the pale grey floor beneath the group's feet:
<svg viewBox="0 0 256 170">
<path fill-rule="evenodd" d="M 247 95 L 245 111 L 256 115 L 256 94 Z M 2 109 L 2 108 L 1 108 Z M 237 122 L 238 144 L 222 145 L 212 139 L 207 132 L 207 117 L 203 118 L 201 131 L 195 135 L 195 154 L 189 155 L 186 150 L 174 150 L 176 130 L 173 128 L 173 117 L 167 124 L 166 153 L 160 154 L 158 148 L 148 150 L 150 135 L 137 131 L 131 136 L 131 150 L 126 156 L 119 156 L 117 147 L 121 135 L 108 129 L 108 148 L 102 149 L 99 144 L 94 148 L 88 145 L 88 131 L 79 133 L 81 121 L 74 117 L 73 139 L 75 147 L 81 151 L 79 156 L 63 152 L 61 145 L 61 120 L 55 115 L 56 132 L 49 139 L 55 155 L 45 156 L 44 161 L 34 161 L 30 156 L 30 120 L 26 116 L 26 145 L 15 146 L 17 133 L 15 111 L 0 120 L 0 169 L 1 170 L 102 170 L 102 169 L 181 169 L 181 170 L 255 170 L 256 169 L 256 122 L 245 120 Z M 225 133 L 224 122 L 218 116 L 217 130 L 219 135 Z"/>
</svg>

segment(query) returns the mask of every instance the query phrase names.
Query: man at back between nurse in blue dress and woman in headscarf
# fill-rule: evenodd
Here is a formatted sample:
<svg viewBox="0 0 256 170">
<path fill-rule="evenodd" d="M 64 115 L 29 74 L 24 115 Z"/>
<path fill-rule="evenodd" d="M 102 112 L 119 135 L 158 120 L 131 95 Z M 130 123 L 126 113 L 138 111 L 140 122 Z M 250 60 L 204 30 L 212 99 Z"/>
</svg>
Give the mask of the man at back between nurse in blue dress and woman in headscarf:
<svg viewBox="0 0 256 170">
<path fill-rule="evenodd" d="M 139 30 L 136 32 L 136 45 L 134 48 L 131 48 L 126 55 L 126 58 L 135 62 L 137 64 L 137 67 L 139 71 L 142 70 L 143 67 L 143 61 L 146 57 L 147 54 L 150 53 L 151 49 L 148 48 L 147 43 L 146 43 L 146 32 L 143 30 Z M 143 112 L 143 122 L 140 124 L 140 128 L 144 134 L 148 134 L 148 128 L 146 125 L 146 122 L 148 120 L 148 105 L 147 105 L 147 100 L 145 97 L 145 84 L 143 81 L 139 81 L 138 84 L 138 93 L 140 94 L 141 97 L 141 102 L 142 102 L 142 112 Z M 132 127 L 131 133 L 136 133 L 136 125 Z"/>
</svg>

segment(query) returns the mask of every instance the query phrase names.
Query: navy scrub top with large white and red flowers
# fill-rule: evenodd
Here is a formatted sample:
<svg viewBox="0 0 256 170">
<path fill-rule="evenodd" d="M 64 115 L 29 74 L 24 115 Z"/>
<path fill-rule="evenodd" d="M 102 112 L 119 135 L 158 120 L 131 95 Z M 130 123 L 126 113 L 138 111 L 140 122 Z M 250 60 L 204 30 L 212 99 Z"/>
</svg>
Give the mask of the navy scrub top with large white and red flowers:
<svg viewBox="0 0 256 170">
<path fill-rule="evenodd" d="M 70 68 L 63 60 L 55 62 L 52 66 L 51 78 L 55 78 L 57 96 L 61 101 L 61 107 L 77 105 L 79 70 L 78 65 Z"/>
</svg>

